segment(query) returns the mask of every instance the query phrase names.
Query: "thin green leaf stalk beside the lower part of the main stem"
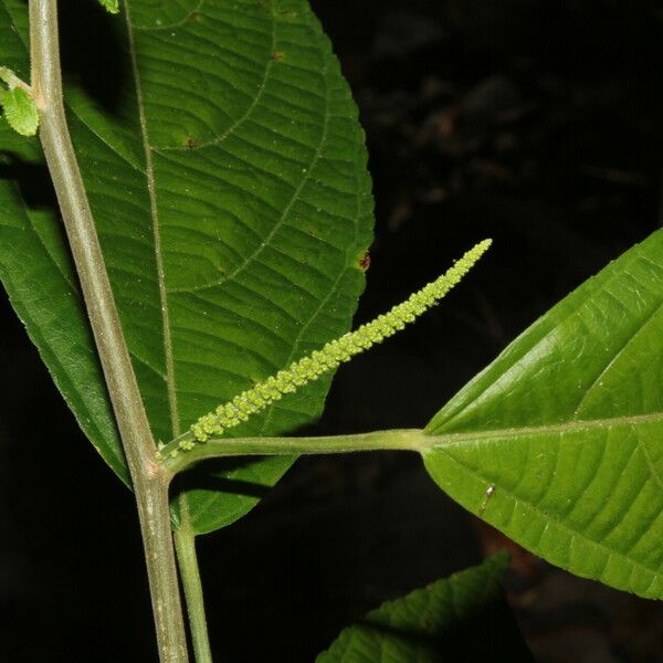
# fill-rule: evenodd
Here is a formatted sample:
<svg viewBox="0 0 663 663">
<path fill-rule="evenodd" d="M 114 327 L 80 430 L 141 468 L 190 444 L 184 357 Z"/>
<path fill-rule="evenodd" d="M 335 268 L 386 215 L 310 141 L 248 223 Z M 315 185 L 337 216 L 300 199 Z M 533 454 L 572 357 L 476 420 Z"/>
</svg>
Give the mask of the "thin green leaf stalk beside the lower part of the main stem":
<svg viewBox="0 0 663 663">
<path fill-rule="evenodd" d="M 204 615 L 202 582 L 200 581 L 198 556 L 196 554 L 196 534 L 191 527 L 186 495 L 180 497 L 179 507 L 180 526 L 173 535 L 175 548 L 185 588 L 185 597 L 187 598 L 187 612 L 189 614 L 189 628 L 191 630 L 196 663 L 212 663 L 212 652 Z"/>
</svg>

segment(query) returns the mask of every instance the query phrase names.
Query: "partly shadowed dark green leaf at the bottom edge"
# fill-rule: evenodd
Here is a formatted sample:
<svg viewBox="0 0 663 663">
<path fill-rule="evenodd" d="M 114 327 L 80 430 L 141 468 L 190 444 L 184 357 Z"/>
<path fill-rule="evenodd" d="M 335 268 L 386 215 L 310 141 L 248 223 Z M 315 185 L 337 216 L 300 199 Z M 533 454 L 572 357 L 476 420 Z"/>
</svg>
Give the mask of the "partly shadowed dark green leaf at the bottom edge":
<svg viewBox="0 0 663 663">
<path fill-rule="evenodd" d="M 383 603 L 316 663 L 532 661 L 504 598 L 506 555 Z"/>
</svg>

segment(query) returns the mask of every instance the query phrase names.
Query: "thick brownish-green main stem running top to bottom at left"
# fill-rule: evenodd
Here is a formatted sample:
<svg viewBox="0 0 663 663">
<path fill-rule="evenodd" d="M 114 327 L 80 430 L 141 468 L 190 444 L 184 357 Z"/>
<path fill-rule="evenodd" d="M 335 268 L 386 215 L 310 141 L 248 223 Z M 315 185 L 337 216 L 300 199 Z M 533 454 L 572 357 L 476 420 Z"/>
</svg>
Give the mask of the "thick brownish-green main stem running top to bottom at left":
<svg viewBox="0 0 663 663">
<path fill-rule="evenodd" d="M 156 445 L 122 332 L 92 211 L 69 135 L 62 95 L 56 0 L 30 0 L 32 91 L 87 315 L 134 484 L 161 663 L 186 663 L 187 641 L 170 532 L 171 474 Z"/>
</svg>

